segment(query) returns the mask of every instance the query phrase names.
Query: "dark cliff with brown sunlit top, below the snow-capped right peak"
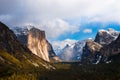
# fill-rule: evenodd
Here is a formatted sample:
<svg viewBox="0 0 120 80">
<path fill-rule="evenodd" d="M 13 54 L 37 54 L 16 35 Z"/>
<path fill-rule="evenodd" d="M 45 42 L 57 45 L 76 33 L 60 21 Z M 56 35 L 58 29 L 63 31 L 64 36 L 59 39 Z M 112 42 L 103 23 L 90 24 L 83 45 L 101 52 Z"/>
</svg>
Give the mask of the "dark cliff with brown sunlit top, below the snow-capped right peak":
<svg viewBox="0 0 120 80">
<path fill-rule="evenodd" d="M 101 45 L 92 41 L 87 40 L 85 47 L 83 48 L 82 60 L 83 64 L 91 64 L 97 62 L 99 59 L 99 51 L 101 49 Z"/>
</svg>

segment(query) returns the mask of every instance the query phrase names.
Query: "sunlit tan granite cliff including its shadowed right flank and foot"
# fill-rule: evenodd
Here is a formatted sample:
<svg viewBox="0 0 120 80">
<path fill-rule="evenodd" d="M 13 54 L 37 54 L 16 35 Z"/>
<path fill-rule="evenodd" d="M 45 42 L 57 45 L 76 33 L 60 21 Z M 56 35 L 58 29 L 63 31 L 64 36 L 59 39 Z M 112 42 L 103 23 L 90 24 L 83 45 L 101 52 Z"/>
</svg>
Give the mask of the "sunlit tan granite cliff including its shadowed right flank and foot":
<svg viewBox="0 0 120 80">
<path fill-rule="evenodd" d="M 27 46 L 35 55 L 44 59 L 45 61 L 59 61 L 52 45 L 46 40 L 45 31 L 37 28 L 31 28 L 28 32 Z"/>
</svg>

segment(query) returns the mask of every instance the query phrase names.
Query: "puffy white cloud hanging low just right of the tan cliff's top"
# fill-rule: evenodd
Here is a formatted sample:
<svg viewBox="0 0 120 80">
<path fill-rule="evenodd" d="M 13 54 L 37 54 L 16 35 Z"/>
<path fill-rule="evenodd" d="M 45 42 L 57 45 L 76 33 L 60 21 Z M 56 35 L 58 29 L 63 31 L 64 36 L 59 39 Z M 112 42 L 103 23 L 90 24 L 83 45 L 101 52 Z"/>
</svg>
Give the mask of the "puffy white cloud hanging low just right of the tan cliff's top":
<svg viewBox="0 0 120 80">
<path fill-rule="evenodd" d="M 39 28 L 46 31 L 48 38 L 57 38 L 63 34 L 79 31 L 79 26 L 70 25 L 62 19 L 41 22 Z"/>
</svg>

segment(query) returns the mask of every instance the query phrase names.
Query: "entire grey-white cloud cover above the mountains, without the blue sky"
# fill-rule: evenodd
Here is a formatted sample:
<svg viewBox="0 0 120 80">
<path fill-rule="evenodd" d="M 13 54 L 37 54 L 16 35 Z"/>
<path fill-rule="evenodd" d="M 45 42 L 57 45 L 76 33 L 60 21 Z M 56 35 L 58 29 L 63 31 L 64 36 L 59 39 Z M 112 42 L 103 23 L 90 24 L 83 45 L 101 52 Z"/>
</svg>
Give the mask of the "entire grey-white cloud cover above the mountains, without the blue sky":
<svg viewBox="0 0 120 80">
<path fill-rule="evenodd" d="M 120 0 L 0 0 L 1 21 L 10 26 L 41 25 L 49 38 L 79 30 L 67 19 L 120 23 L 119 15 Z"/>
</svg>

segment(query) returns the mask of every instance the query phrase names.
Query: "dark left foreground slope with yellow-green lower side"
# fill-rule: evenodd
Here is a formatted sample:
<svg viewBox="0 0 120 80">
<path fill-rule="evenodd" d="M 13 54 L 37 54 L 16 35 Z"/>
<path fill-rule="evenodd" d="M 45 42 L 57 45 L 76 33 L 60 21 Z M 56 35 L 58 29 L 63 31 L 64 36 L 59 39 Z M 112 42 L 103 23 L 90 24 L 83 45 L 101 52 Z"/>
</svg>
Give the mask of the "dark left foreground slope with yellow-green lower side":
<svg viewBox="0 0 120 80">
<path fill-rule="evenodd" d="M 0 22 L 0 72 L 6 68 L 32 69 L 35 67 L 52 69 L 52 65 L 38 58 L 25 45 L 22 45 L 13 31 Z M 3 70 L 2 70 L 3 69 Z"/>
</svg>

